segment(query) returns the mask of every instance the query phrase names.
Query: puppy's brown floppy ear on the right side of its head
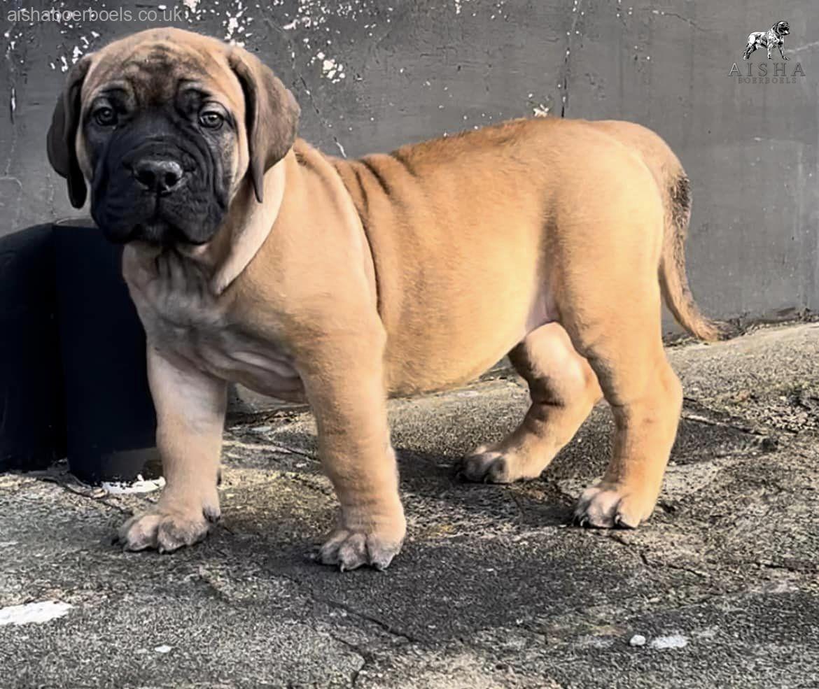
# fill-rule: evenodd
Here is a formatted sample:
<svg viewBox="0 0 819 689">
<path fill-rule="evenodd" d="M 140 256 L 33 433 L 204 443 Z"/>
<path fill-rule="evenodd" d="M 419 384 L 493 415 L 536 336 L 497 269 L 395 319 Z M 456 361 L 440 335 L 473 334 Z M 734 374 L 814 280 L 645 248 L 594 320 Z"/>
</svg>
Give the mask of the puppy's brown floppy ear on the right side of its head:
<svg viewBox="0 0 819 689">
<path fill-rule="evenodd" d="M 256 56 L 233 48 L 228 59 L 245 96 L 248 173 L 261 202 L 265 172 L 282 160 L 296 140 L 301 110 L 293 94 Z"/>
</svg>

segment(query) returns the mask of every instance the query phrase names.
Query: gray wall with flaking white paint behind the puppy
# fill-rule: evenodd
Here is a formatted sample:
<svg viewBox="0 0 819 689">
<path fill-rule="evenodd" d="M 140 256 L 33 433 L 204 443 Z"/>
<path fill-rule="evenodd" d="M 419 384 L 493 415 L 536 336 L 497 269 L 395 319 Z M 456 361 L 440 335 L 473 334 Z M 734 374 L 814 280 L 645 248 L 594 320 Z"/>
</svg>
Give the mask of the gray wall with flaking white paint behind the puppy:
<svg viewBox="0 0 819 689">
<path fill-rule="evenodd" d="M 819 309 L 816 0 L 69 0 L 132 20 L 9 20 L 50 7 L 2 4 L 0 234 L 77 215 L 44 138 L 68 66 L 173 24 L 257 52 L 300 101 L 301 135 L 333 154 L 536 110 L 645 124 L 692 180 L 689 275 L 704 310 L 753 320 Z M 150 11 L 156 20 L 139 19 Z M 805 76 L 737 83 L 749 32 L 781 19 L 788 74 L 799 62 Z M 755 74 L 761 61 L 754 53 Z"/>
</svg>

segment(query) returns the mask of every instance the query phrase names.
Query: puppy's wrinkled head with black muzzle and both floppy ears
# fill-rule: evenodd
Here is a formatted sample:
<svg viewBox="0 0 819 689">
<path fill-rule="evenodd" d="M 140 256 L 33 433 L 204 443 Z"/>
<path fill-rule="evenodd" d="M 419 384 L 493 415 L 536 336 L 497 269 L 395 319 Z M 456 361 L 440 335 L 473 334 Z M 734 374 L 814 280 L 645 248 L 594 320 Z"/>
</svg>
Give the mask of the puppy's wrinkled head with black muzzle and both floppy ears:
<svg viewBox="0 0 819 689">
<path fill-rule="evenodd" d="M 292 93 L 240 47 L 149 29 L 84 56 L 48 131 L 48 160 L 111 241 L 204 244 L 242 184 L 296 137 Z"/>
</svg>

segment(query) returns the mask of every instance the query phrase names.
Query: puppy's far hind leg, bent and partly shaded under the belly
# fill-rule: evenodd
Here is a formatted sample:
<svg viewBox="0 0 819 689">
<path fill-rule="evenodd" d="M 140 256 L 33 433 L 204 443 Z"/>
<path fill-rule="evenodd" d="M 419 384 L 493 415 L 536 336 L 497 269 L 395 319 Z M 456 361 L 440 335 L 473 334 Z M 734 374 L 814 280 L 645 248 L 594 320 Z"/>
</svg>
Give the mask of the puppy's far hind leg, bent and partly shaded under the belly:
<svg viewBox="0 0 819 689">
<path fill-rule="evenodd" d="M 467 480 L 510 483 L 540 475 L 602 396 L 595 372 L 559 323 L 532 331 L 509 359 L 529 385 L 532 406 L 505 439 L 460 462 Z"/>
</svg>

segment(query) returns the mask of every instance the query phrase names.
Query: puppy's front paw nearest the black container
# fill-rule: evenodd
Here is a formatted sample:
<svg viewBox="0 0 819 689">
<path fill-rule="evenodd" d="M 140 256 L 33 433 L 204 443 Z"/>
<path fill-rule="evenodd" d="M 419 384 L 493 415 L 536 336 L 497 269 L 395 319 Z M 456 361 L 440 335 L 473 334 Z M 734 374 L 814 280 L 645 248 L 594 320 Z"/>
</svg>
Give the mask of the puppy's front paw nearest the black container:
<svg viewBox="0 0 819 689">
<path fill-rule="evenodd" d="M 218 507 L 180 510 L 157 506 L 126 521 L 120 526 L 116 540 L 125 550 L 174 552 L 199 543 L 217 520 Z"/>
</svg>

